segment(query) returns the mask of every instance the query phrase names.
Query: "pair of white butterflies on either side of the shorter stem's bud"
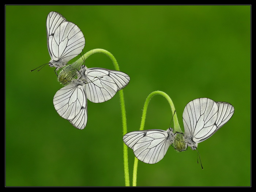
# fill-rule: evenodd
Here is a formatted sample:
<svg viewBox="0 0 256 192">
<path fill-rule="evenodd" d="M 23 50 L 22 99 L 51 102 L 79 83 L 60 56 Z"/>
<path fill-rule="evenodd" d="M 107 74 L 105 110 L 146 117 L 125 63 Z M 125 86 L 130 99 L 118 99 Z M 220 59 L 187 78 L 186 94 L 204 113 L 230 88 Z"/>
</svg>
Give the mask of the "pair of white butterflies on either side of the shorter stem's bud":
<svg viewBox="0 0 256 192">
<path fill-rule="evenodd" d="M 182 115 L 187 147 L 196 150 L 198 143 L 212 136 L 233 114 L 234 107 L 227 102 L 215 102 L 209 98 L 198 98 L 189 102 Z M 165 156 L 176 134 L 172 128 L 166 131 L 132 131 L 123 136 L 123 141 L 140 161 L 154 164 Z"/>
</svg>

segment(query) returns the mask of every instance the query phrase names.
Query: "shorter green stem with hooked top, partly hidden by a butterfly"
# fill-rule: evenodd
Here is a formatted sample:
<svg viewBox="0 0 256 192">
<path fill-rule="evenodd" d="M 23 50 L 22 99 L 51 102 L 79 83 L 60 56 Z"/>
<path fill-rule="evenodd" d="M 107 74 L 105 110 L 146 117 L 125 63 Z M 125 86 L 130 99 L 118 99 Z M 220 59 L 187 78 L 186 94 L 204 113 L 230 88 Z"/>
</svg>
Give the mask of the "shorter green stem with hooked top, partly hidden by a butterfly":
<svg viewBox="0 0 256 192">
<path fill-rule="evenodd" d="M 150 102 L 150 99 L 155 96 L 155 95 L 162 95 L 163 97 L 165 97 L 167 99 L 167 101 L 169 102 L 169 105 L 171 107 L 172 110 L 172 114 L 174 114 L 173 116 L 173 122 L 174 122 L 174 133 L 175 132 L 181 132 L 180 129 L 180 124 L 178 123 L 178 118 L 177 118 L 177 114 L 174 113 L 175 112 L 175 108 L 172 102 L 172 99 L 169 97 L 169 95 L 167 95 L 165 92 L 163 91 L 153 91 L 152 93 L 150 93 L 148 95 L 148 97 L 146 98 L 146 101 L 144 103 L 144 107 L 143 107 L 143 112 L 142 112 L 142 120 L 140 123 L 140 130 L 144 129 L 144 125 L 145 125 L 145 120 L 146 120 L 146 113 L 147 113 L 147 107 L 148 107 L 148 103 Z M 132 180 L 132 186 L 136 186 L 136 182 L 137 182 L 137 170 L 138 170 L 138 159 L 135 157 L 134 159 L 134 166 L 133 166 L 133 180 Z"/>
</svg>

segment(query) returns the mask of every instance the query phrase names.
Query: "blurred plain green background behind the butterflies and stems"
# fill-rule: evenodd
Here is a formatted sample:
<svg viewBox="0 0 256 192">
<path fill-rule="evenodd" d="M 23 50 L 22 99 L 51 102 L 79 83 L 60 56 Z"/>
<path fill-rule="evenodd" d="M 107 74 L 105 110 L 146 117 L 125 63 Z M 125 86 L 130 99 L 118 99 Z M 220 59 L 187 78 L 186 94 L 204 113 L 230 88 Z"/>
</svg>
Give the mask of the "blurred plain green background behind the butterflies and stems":
<svg viewBox="0 0 256 192">
<path fill-rule="evenodd" d="M 124 89 L 128 132 L 138 130 L 148 94 L 173 100 L 181 129 L 185 105 L 199 97 L 226 101 L 231 120 L 198 146 L 162 161 L 139 162 L 138 186 L 251 185 L 251 7 L 249 5 L 7 5 L 6 186 L 124 186 L 119 95 L 88 102 L 85 129 L 53 107 L 62 86 L 48 63 L 46 16 L 60 12 L 83 31 L 84 53 L 111 52 L 131 81 Z M 76 57 L 72 61 L 78 59 Z M 69 63 L 72 63 L 69 62 Z M 87 67 L 114 69 L 105 54 Z M 169 128 L 172 113 L 161 95 L 151 99 L 145 129 Z M 173 126 L 173 125 L 172 125 Z M 134 155 L 129 148 L 130 183 Z"/>
</svg>

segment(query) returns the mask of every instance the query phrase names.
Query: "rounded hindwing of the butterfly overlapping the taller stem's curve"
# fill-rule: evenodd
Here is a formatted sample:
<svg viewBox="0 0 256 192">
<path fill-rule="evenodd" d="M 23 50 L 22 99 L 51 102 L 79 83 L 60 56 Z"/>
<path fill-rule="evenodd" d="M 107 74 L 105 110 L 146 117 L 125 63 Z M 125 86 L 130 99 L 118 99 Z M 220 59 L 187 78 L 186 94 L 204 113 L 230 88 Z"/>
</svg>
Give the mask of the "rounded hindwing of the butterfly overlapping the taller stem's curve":
<svg viewBox="0 0 256 192">
<path fill-rule="evenodd" d="M 87 98 L 94 103 L 108 101 L 118 91 L 110 72 L 102 68 L 88 68 L 84 71 Z"/>
</svg>

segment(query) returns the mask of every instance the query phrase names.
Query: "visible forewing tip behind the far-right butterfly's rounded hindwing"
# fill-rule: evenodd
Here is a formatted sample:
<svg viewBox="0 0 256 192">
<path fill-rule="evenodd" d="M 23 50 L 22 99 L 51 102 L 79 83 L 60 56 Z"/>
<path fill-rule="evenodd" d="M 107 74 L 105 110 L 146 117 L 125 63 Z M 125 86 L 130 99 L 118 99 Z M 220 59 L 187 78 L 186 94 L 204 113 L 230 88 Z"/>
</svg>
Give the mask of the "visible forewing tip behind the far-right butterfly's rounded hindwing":
<svg viewBox="0 0 256 192">
<path fill-rule="evenodd" d="M 217 130 L 221 128 L 234 114 L 234 107 L 227 102 L 216 102 L 219 106 L 218 117 L 216 121 Z"/>
</svg>

